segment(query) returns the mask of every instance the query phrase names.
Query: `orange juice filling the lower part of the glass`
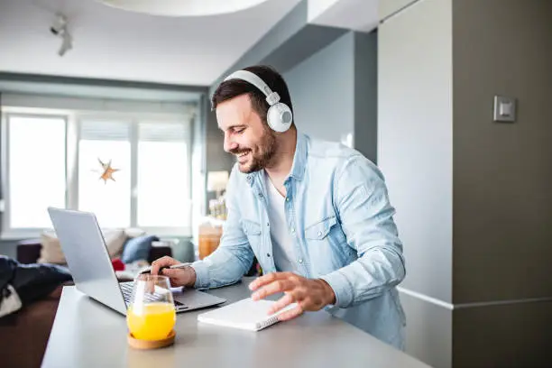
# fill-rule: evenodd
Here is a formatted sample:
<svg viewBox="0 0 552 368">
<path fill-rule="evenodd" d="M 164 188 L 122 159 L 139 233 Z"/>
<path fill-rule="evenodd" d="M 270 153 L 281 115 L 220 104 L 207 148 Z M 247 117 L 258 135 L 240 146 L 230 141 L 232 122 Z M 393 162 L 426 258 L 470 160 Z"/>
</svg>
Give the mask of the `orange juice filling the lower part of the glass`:
<svg viewBox="0 0 552 368">
<path fill-rule="evenodd" d="M 171 303 L 131 306 L 126 313 L 126 323 L 133 336 L 140 340 L 161 340 L 169 336 L 176 323 L 176 312 Z"/>
</svg>

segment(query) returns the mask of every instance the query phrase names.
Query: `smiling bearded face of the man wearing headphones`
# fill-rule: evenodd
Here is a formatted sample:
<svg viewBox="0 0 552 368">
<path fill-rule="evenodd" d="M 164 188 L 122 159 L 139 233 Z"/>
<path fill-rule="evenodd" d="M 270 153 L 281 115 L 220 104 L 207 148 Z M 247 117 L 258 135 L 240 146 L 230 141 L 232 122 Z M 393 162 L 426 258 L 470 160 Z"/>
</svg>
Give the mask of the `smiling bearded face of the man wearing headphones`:
<svg viewBox="0 0 552 368">
<path fill-rule="evenodd" d="M 235 155 L 240 171 L 250 173 L 271 164 L 276 137 L 253 110 L 249 95 L 218 104 L 216 120 L 218 128 L 225 133 L 225 152 Z"/>
</svg>

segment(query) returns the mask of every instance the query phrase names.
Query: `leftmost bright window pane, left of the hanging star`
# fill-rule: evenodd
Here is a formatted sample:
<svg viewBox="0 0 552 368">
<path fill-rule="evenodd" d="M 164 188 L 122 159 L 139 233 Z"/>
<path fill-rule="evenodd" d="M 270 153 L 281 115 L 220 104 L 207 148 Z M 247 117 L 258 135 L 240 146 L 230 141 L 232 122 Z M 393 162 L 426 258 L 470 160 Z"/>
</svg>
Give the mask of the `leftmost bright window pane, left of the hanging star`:
<svg viewBox="0 0 552 368">
<path fill-rule="evenodd" d="M 49 227 L 46 207 L 65 205 L 66 121 L 60 116 L 8 115 L 4 214 L 12 229 Z"/>
</svg>

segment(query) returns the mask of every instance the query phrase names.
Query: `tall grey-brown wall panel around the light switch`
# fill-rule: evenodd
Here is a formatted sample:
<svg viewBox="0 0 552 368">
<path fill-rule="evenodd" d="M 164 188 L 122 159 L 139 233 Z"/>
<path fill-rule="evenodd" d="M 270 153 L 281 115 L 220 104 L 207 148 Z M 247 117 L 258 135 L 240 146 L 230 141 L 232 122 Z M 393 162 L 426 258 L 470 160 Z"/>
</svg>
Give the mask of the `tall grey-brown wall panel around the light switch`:
<svg viewBox="0 0 552 368">
<path fill-rule="evenodd" d="M 552 2 L 456 0 L 454 34 L 454 300 L 552 296 Z"/>
</svg>

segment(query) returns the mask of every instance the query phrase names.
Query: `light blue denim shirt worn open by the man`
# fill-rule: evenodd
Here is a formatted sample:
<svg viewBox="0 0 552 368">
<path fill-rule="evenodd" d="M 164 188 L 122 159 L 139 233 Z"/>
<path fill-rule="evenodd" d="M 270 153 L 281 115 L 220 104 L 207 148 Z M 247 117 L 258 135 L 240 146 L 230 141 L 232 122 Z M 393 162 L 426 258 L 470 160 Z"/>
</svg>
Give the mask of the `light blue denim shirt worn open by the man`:
<svg viewBox="0 0 552 368">
<path fill-rule="evenodd" d="M 284 186 L 296 270 L 332 287 L 336 304 L 328 312 L 404 349 L 405 317 L 395 288 L 405 277 L 404 258 L 380 170 L 343 144 L 298 133 Z M 193 263 L 198 289 L 240 280 L 253 255 L 264 273 L 278 271 L 262 171 L 244 174 L 235 166 L 226 206 L 220 245 Z"/>
</svg>

